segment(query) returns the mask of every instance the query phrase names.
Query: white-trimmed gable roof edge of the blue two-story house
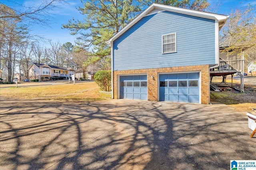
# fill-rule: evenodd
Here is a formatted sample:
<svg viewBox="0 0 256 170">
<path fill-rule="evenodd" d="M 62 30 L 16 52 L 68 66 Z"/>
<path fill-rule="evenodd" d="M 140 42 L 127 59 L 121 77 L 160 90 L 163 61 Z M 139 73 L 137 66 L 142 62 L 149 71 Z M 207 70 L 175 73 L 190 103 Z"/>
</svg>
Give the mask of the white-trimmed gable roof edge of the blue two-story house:
<svg viewBox="0 0 256 170">
<path fill-rule="evenodd" d="M 116 33 L 113 37 L 111 37 L 106 43 L 111 45 L 111 42 L 117 39 L 120 35 L 122 35 L 125 31 L 127 31 L 130 27 L 132 27 L 135 23 L 141 20 L 143 17 L 156 14 L 158 12 L 169 11 L 176 12 L 180 14 L 186 14 L 190 16 L 197 16 L 201 18 L 208 18 L 212 20 L 217 20 L 219 24 L 219 30 L 224 25 L 229 16 L 224 16 L 220 14 L 213 14 L 209 12 L 201 12 L 196 10 L 188 10 L 184 8 L 177 8 L 173 6 L 166 6 L 160 4 L 152 4 L 146 10 L 144 10 L 141 14 L 139 14 L 136 18 L 134 18 L 130 23 L 128 23 L 124 28 L 122 28 L 118 33 Z"/>
</svg>

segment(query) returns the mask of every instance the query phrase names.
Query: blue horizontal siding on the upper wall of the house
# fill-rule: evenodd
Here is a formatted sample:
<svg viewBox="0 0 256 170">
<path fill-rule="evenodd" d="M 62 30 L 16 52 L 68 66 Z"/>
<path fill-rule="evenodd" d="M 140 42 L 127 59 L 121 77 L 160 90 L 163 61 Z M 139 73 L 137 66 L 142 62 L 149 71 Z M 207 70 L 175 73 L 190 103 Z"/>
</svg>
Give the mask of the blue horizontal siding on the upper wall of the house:
<svg viewBox="0 0 256 170">
<path fill-rule="evenodd" d="M 177 52 L 162 54 L 162 35 L 176 33 Z M 113 44 L 114 71 L 215 64 L 215 21 L 174 12 L 146 16 Z"/>
</svg>

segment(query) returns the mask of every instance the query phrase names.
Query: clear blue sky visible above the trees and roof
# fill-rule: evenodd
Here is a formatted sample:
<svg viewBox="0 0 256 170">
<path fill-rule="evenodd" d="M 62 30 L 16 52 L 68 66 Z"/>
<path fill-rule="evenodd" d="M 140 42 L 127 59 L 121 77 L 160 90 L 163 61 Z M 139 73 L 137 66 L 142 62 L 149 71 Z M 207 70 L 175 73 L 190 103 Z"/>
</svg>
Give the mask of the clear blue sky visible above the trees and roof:
<svg viewBox="0 0 256 170">
<path fill-rule="evenodd" d="M 40 4 L 41 0 L 0 0 L 10 8 L 17 10 L 24 10 L 17 6 L 15 3 L 22 4 L 24 6 L 36 6 Z M 70 42 L 73 45 L 76 39 L 76 35 L 70 35 L 70 30 L 62 29 L 62 24 L 67 24 L 68 20 L 83 20 L 84 16 L 76 9 L 78 6 L 82 7 L 81 0 L 66 0 L 66 4 L 60 4 L 60 8 L 56 8 L 52 11 L 50 26 L 31 25 L 31 31 L 33 34 L 44 36 L 46 39 L 51 39 L 52 42 L 60 42 L 61 44 Z M 246 8 L 248 4 L 256 6 L 256 0 L 208 0 L 211 4 L 211 12 L 216 14 L 230 15 L 232 10 Z M 47 45 L 44 45 L 47 46 Z"/>
</svg>

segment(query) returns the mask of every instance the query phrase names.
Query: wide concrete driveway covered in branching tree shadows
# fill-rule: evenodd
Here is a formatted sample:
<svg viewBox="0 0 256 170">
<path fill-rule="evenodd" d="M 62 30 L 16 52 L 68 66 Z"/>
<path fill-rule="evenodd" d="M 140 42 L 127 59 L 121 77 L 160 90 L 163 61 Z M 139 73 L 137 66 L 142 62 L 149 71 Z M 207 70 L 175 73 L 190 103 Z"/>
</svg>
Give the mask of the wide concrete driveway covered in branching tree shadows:
<svg viewBox="0 0 256 170">
<path fill-rule="evenodd" d="M 226 105 L 0 99 L 1 170 L 218 170 L 256 158 Z"/>
</svg>

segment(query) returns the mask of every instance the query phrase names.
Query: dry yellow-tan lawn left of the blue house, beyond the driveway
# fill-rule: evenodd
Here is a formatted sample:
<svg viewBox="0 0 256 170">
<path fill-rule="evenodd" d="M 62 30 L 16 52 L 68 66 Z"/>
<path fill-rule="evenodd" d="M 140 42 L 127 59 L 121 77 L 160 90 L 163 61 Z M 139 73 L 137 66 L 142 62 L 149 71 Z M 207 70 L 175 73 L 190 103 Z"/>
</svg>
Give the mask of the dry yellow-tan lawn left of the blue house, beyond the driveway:
<svg viewBox="0 0 256 170">
<path fill-rule="evenodd" d="M 0 96 L 6 98 L 64 101 L 105 100 L 99 96 L 99 87 L 95 82 L 53 84 L 47 86 L 2 88 Z"/>
</svg>

